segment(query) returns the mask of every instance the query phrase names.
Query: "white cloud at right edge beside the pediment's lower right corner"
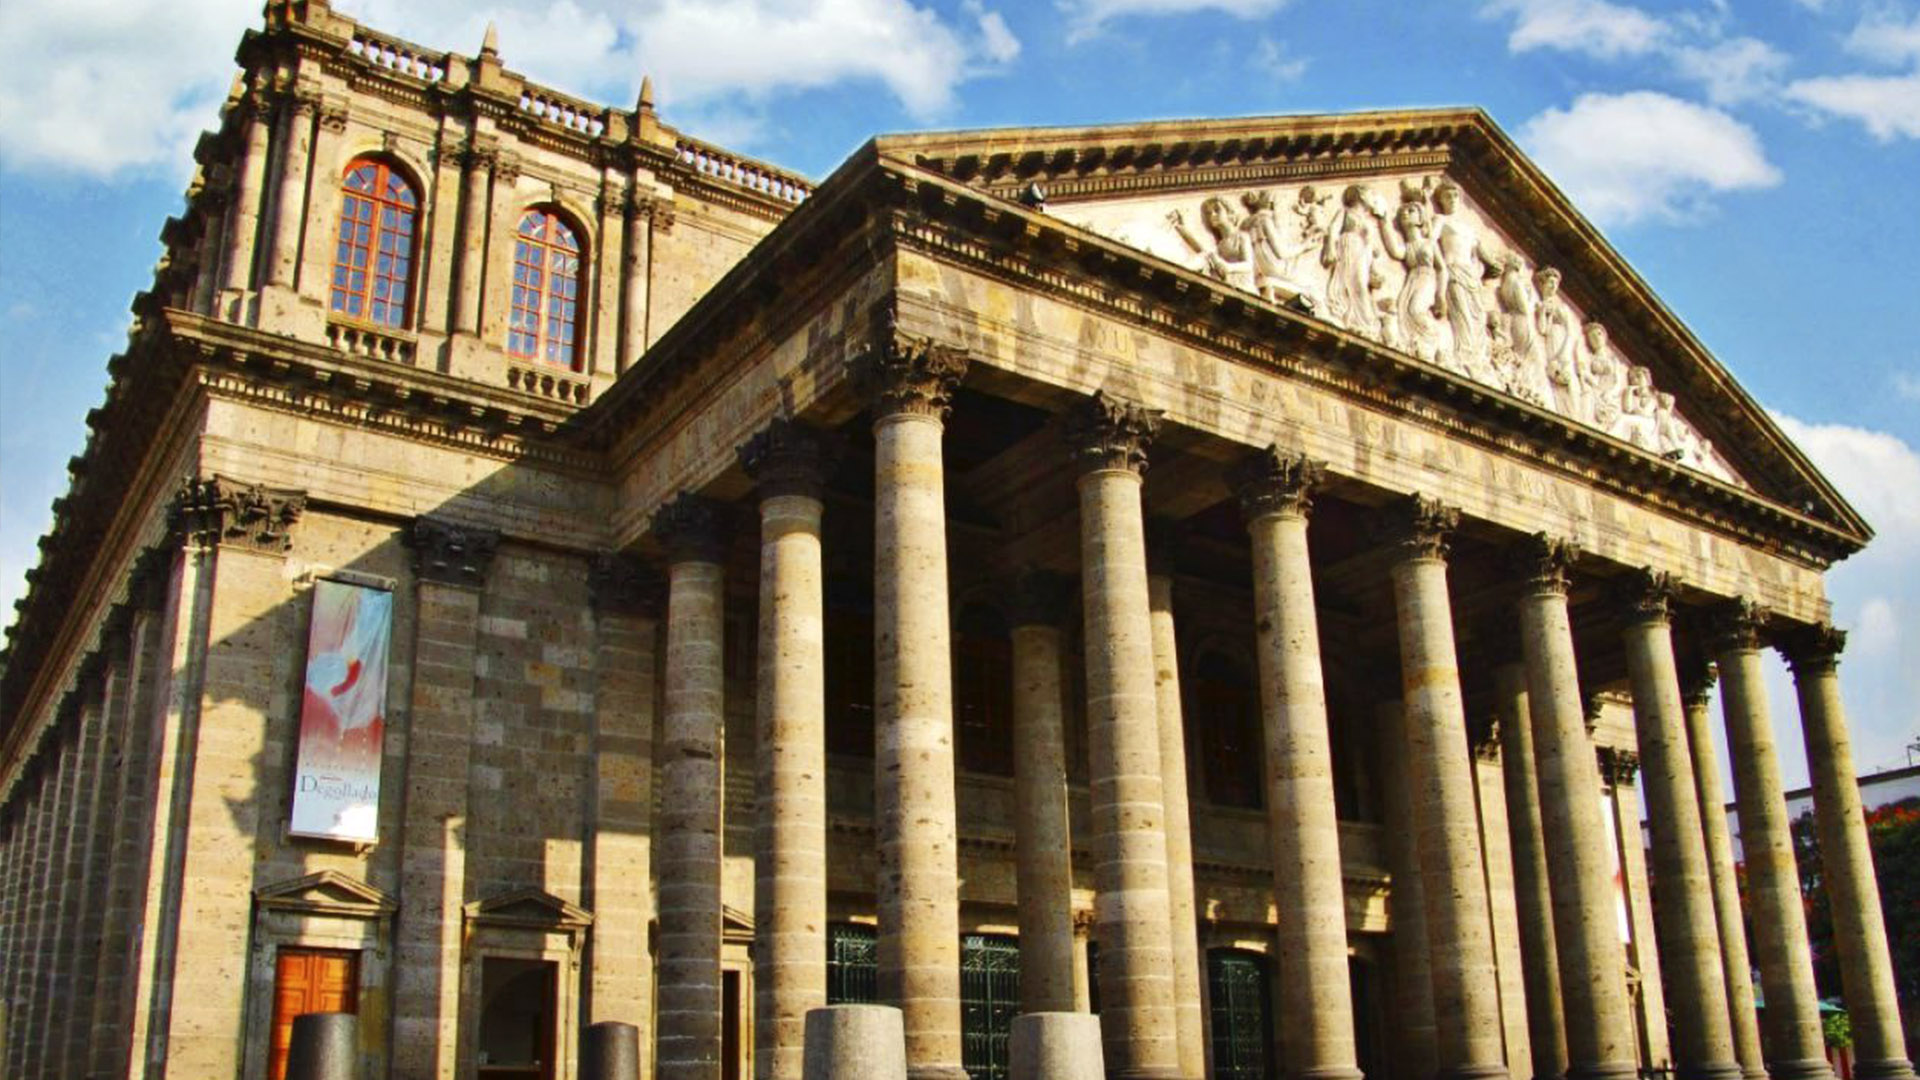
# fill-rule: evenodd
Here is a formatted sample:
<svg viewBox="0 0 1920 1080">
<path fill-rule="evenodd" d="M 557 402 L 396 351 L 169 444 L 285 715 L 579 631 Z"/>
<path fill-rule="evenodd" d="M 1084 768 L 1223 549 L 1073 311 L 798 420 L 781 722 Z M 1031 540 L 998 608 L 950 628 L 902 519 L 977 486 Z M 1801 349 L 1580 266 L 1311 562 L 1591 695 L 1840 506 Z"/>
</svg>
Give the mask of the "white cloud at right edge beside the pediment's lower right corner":
<svg viewBox="0 0 1920 1080">
<path fill-rule="evenodd" d="M 1828 571 L 1826 588 L 1834 623 L 1849 630 L 1841 690 L 1855 765 L 1899 765 L 1920 734 L 1920 450 L 1882 430 L 1774 419 L 1874 527 L 1874 542 Z"/>
</svg>

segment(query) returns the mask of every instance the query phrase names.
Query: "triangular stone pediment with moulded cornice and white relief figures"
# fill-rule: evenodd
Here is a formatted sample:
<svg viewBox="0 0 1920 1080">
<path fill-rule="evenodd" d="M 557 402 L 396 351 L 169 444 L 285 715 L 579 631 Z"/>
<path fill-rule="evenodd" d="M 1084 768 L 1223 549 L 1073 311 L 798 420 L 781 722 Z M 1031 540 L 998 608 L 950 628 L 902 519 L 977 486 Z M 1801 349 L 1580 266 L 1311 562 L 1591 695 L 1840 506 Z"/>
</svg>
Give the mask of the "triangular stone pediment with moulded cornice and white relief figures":
<svg viewBox="0 0 1920 1080">
<path fill-rule="evenodd" d="M 935 133 L 877 150 L 1870 536 L 1476 110 Z"/>
</svg>

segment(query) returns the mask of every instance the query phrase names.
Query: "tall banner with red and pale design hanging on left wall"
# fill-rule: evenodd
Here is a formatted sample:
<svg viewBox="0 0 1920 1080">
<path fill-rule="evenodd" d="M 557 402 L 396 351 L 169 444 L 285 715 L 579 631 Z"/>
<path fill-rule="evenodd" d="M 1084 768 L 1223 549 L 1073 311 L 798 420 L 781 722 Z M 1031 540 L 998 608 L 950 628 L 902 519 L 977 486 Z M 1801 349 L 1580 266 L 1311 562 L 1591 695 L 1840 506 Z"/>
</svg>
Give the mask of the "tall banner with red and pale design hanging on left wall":
<svg viewBox="0 0 1920 1080">
<path fill-rule="evenodd" d="M 392 592 L 328 578 L 313 582 L 288 828 L 294 836 L 378 838 L 392 634 Z"/>
</svg>

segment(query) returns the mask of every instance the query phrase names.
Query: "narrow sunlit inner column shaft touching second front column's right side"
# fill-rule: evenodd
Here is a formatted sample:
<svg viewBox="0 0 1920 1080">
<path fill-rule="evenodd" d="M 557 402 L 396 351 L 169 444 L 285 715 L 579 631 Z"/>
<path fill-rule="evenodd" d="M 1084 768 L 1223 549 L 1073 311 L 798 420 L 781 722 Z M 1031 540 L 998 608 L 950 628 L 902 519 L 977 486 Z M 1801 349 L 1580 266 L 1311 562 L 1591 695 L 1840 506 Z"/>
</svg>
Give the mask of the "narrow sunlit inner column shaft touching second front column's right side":
<svg viewBox="0 0 1920 1080">
<path fill-rule="evenodd" d="M 1152 559 L 1152 552 L 1148 552 Z M 1160 713 L 1160 798 L 1167 822 L 1167 920 L 1173 947 L 1173 1030 L 1181 1076 L 1206 1074 L 1206 1017 L 1200 1007 L 1200 919 L 1194 897 L 1194 838 L 1187 784 L 1187 719 L 1181 659 L 1173 636 L 1173 578 L 1148 575 L 1154 626 L 1154 698 Z"/>
</svg>

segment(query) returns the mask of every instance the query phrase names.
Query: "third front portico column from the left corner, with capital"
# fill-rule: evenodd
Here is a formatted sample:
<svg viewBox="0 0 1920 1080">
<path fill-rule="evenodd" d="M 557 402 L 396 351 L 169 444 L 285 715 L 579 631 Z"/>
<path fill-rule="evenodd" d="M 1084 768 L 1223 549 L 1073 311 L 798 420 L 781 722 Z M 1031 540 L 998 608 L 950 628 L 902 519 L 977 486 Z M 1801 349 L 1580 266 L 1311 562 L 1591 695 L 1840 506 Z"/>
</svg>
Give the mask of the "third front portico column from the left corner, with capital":
<svg viewBox="0 0 1920 1080">
<path fill-rule="evenodd" d="M 1321 473 L 1319 461 L 1269 446 L 1231 479 L 1254 550 L 1286 1076 L 1357 1080 L 1327 678 L 1308 559 L 1308 511 Z"/>
</svg>

